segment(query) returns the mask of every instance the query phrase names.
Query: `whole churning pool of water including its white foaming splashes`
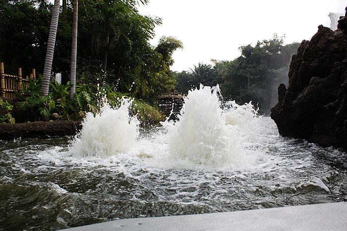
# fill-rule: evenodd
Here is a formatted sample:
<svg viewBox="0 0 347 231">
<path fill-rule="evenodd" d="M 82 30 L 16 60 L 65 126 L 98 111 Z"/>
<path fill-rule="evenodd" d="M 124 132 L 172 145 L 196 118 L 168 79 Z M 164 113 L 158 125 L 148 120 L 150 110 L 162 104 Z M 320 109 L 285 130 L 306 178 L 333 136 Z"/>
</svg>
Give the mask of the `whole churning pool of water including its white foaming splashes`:
<svg viewBox="0 0 347 231">
<path fill-rule="evenodd" d="M 140 128 L 123 100 L 76 137 L 0 141 L 0 230 L 347 201 L 346 153 L 220 97 L 189 92 L 161 127 Z"/>
</svg>

